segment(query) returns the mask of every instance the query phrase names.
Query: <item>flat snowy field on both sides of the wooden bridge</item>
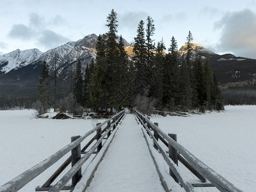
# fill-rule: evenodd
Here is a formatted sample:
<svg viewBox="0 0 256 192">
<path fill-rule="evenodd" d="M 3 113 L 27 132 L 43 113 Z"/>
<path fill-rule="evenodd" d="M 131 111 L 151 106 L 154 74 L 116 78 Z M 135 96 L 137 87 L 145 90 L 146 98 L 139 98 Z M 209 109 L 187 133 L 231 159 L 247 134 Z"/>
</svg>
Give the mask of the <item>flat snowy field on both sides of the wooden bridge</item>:
<svg viewBox="0 0 256 192">
<path fill-rule="evenodd" d="M 158 122 L 163 131 L 177 134 L 180 144 L 237 188 L 255 191 L 256 106 L 225 109 L 222 113 L 189 117 L 152 116 L 151 120 Z M 35 119 L 33 113 L 33 110 L 0 111 L 0 186 L 70 143 L 71 136 L 83 135 L 98 121 Z M 35 191 L 57 166 L 20 191 Z"/>
</svg>

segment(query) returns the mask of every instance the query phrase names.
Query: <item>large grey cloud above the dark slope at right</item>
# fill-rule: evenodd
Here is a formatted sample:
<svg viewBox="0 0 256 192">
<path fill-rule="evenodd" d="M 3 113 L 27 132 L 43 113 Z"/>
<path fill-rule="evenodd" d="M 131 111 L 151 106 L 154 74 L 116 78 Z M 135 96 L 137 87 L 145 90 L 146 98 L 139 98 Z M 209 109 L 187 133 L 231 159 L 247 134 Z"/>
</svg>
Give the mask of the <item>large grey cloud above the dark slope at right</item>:
<svg viewBox="0 0 256 192">
<path fill-rule="evenodd" d="M 227 13 L 214 28 L 221 29 L 220 51 L 256 58 L 256 14 L 251 10 Z"/>
</svg>

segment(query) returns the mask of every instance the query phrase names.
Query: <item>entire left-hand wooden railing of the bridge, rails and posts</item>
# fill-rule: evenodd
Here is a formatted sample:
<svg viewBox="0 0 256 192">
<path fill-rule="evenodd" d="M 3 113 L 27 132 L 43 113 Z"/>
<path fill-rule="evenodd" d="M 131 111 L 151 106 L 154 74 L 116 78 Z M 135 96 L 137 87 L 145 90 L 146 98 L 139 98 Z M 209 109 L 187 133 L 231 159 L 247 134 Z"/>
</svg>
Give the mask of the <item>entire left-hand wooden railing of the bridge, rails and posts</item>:
<svg viewBox="0 0 256 192">
<path fill-rule="evenodd" d="M 67 146 L 61 148 L 58 152 L 48 157 L 44 161 L 36 164 L 29 170 L 24 173 L 21 173 L 19 176 L 14 179 L 6 182 L 3 186 L 0 187 L 1 192 L 15 192 L 19 189 L 23 188 L 26 184 L 28 184 L 31 180 L 35 179 L 38 175 L 43 173 L 47 168 L 52 166 L 52 164 L 56 163 L 61 159 L 61 157 L 65 156 L 68 152 L 72 152 L 72 155 L 68 157 L 68 159 L 61 164 L 60 168 L 54 172 L 54 174 L 45 182 L 45 184 L 36 188 L 36 191 L 60 191 L 61 189 L 71 190 L 74 188 L 78 180 L 81 178 L 81 167 L 86 162 L 86 160 L 95 153 L 95 150 L 99 152 L 102 147 L 102 140 L 106 137 L 109 137 L 111 131 L 113 131 L 118 122 L 124 117 L 124 111 L 117 113 L 112 118 L 97 124 L 96 127 L 86 132 L 83 136 L 74 136 L 72 137 L 72 143 Z M 104 127 L 105 126 L 105 127 Z M 102 129 L 104 127 L 104 129 Z M 85 138 L 93 134 L 93 132 L 97 132 L 97 134 L 90 140 L 81 150 L 81 142 L 84 141 Z M 90 147 L 93 141 L 97 140 L 97 142 L 90 148 L 90 150 L 85 150 Z M 81 157 L 81 154 L 84 156 Z M 68 164 L 72 163 L 72 168 L 68 170 L 68 172 L 54 185 L 50 186 L 52 182 L 60 175 L 60 173 L 68 166 Z M 67 182 L 72 179 L 72 186 L 65 186 Z"/>
</svg>

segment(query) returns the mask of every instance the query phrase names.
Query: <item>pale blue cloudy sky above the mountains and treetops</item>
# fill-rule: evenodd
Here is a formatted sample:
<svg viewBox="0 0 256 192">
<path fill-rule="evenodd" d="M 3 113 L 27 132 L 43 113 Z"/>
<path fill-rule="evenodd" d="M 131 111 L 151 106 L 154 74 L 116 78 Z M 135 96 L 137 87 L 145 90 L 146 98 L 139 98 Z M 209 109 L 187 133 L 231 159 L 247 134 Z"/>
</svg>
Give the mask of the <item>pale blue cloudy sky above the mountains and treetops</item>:
<svg viewBox="0 0 256 192">
<path fill-rule="evenodd" d="M 118 35 L 134 42 L 140 20 L 152 17 L 153 36 L 166 48 L 174 36 L 179 47 L 190 30 L 194 42 L 223 54 L 256 58 L 256 1 L 205 0 L 1 0 L 0 54 L 15 49 L 48 49 L 86 35 L 106 33 L 113 8 Z"/>
</svg>

